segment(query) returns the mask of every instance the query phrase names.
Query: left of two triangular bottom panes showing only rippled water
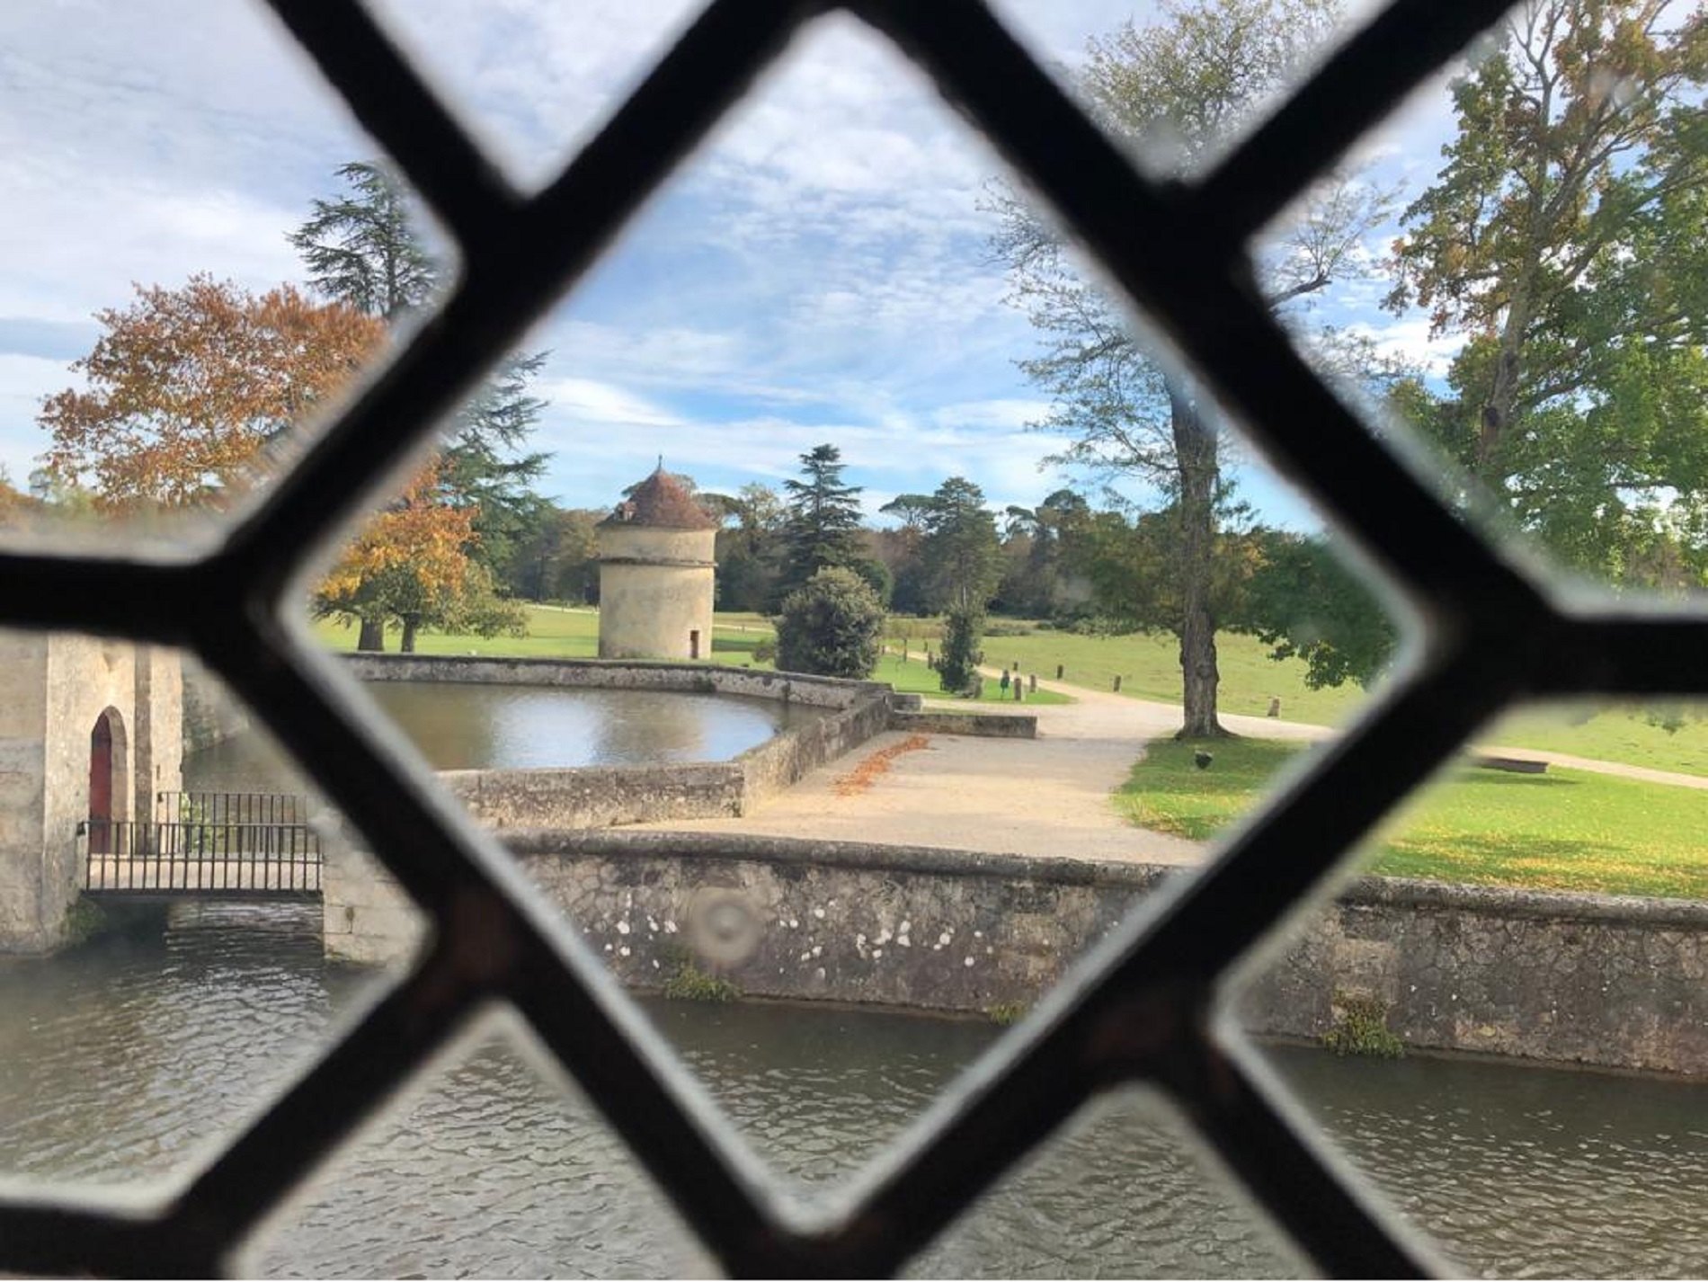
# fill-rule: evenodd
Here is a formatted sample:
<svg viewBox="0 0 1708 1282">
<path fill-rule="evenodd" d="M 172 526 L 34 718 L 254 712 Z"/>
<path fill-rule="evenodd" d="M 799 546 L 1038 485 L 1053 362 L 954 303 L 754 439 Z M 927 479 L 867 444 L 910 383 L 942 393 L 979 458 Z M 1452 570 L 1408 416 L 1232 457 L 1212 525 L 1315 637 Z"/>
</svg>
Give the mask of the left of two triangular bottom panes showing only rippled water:
<svg viewBox="0 0 1708 1282">
<path fill-rule="evenodd" d="M 246 1272 L 704 1277 L 711 1262 L 622 1140 L 519 1036 L 473 1043 L 362 1128 Z"/>
</svg>

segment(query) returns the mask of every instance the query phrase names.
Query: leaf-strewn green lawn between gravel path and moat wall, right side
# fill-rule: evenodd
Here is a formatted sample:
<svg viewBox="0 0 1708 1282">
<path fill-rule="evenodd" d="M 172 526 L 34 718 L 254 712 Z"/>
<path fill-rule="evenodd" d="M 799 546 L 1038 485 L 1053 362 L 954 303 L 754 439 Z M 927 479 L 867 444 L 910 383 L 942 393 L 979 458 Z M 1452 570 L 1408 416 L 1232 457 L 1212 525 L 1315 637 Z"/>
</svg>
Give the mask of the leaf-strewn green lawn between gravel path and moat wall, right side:
<svg viewBox="0 0 1708 1282">
<path fill-rule="evenodd" d="M 1144 828 L 1208 838 L 1293 765 L 1301 744 L 1158 743 L 1115 792 Z M 1549 766 L 1546 775 L 1459 768 L 1424 789 L 1375 840 L 1368 871 L 1539 889 L 1708 898 L 1708 794 Z"/>
</svg>

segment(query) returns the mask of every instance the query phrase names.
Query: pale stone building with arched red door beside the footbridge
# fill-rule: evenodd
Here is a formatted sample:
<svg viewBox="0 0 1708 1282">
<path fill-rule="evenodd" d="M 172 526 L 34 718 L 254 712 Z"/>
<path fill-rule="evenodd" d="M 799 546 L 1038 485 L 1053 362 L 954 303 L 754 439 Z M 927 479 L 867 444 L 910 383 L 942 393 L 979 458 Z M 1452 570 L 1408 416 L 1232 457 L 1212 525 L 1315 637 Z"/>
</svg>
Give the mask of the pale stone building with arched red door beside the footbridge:
<svg viewBox="0 0 1708 1282">
<path fill-rule="evenodd" d="M 61 942 L 84 843 L 152 819 L 155 795 L 183 787 L 183 755 L 176 650 L 0 633 L 0 953 Z"/>
</svg>

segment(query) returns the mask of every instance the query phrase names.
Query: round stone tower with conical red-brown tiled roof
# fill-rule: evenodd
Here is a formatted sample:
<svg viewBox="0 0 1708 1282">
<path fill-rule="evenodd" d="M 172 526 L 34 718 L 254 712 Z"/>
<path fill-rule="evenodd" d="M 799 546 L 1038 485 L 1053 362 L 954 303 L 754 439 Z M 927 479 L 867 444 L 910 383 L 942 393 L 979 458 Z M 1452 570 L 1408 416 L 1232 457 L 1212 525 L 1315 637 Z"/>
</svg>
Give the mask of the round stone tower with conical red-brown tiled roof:
<svg viewBox="0 0 1708 1282">
<path fill-rule="evenodd" d="M 712 657 L 717 521 L 658 471 L 598 526 L 600 657 Z"/>
</svg>

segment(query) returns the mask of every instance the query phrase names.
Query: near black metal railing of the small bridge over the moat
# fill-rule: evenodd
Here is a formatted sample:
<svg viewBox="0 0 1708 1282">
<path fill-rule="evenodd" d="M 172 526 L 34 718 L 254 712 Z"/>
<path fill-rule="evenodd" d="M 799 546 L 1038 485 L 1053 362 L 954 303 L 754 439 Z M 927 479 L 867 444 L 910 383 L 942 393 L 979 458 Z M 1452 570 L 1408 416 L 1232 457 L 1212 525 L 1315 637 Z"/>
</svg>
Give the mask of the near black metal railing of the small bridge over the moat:
<svg viewBox="0 0 1708 1282">
<path fill-rule="evenodd" d="M 306 823 L 85 819 L 84 889 L 94 894 L 319 894 L 321 842 Z"/>
</svg>

